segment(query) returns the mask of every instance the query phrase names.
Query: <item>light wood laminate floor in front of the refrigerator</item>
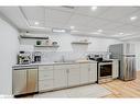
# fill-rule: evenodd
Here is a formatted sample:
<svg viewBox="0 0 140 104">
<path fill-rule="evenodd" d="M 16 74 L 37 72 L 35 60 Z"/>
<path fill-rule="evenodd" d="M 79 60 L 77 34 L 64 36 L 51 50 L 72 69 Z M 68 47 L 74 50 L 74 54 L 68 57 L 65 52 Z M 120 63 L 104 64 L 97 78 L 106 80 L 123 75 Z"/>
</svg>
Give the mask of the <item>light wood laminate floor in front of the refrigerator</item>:
<svg viewBox="0 0 140 104">
<path fill-rule="evenodd" d="M 108 89 L 111 94 L 104 97 L 140 97 L 140 71 L 137 72 L 137 79 L 133 81 L 115 80 L 112 82 L 103 83 L 104 88 Z"/>
</svg>

